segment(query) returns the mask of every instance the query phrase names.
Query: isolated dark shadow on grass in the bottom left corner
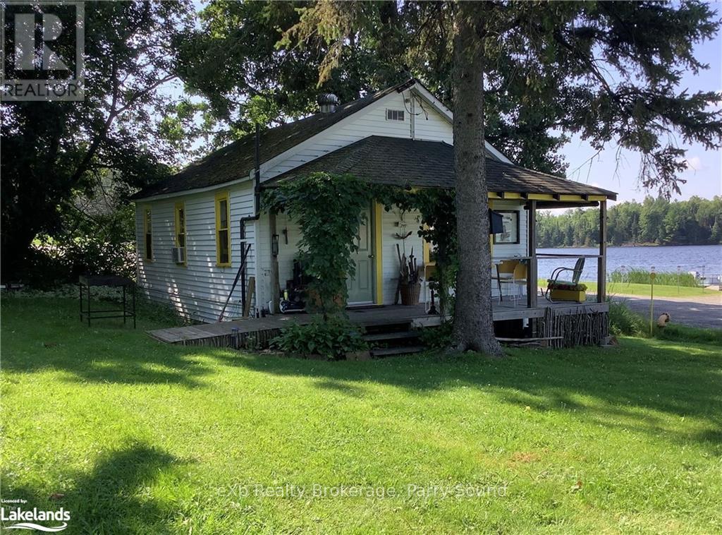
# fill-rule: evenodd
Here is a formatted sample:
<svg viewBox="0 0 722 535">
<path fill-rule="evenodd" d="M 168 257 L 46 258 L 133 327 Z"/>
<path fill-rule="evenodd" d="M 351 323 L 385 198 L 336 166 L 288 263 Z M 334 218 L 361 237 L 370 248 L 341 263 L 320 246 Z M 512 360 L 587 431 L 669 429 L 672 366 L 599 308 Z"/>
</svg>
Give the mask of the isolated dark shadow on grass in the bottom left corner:
<svg viewBox="0 0 722 535">
<path fill-rule="evenodd" d="M 177 459 L 162 450 L 135 444 L 106 454 L 90 474 L 65 478 L 74 481 L 68 492 L 48 495 L 28 487 L 13 488 L 9 478 L 4 478 L 2 490 L 4 497 L 27 500 L 24 510 L 64 508 L 71 515 L 67 533 L 171 534 L 175 531 L 168 523 L 170 515 L 144 496 L 149 495 L 144 488 L 177 464 Z"/>
</svg>

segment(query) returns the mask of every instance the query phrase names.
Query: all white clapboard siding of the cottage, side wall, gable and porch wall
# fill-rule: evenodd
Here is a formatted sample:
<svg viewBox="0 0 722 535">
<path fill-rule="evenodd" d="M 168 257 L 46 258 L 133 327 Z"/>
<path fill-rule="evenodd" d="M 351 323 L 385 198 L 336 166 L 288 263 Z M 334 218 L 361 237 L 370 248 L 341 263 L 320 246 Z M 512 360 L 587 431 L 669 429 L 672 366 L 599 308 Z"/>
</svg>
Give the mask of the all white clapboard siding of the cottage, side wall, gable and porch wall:
<svg viewBox="0 0 722 535">
<path fill-rule="evenodd" d="M 287 150 L 285 153 L 261 164 L 261 181 L 273 178 L 292 168 L 303 165 L 334 150 L 362 140 L 370 135 L 414 138 L 417 140 L 443 141 L 453 143 L 452 126 L 448 119 L 428 103 L 405 102 L 411 98 L 413 90 L 403 93 L 391 93 L 372 103 L 356 114 L 339 121 L 323 132 Z M 404 111 L 404 121 L 389 121 L 386 110 Z M 239 178 L 248 175 L 248 169 L 239 169 Z M 230 268 L 216 265 L 215 241 L 215 195 L 218 192 L 230 192 L 231 258 Z M 186 203 L 186 265 L 176 265 L 171 258 L 170 249 L 175 246 L 175 203 Z M 152 262 L 144 260 L 144 209 L 152 210 L 153 254 Z M 526 212 L 518 202 L 495 202 L 499 210 L 521 210 L 521 243 L 518 245 L 499 245 L 494 249 L 495 256 L 526 254 Z M 151 202 L 139 201 L 136 207 L 136 231 L 138 244 L 138 281 L 139 286 L 151 299 L 171 304 L 180 314 L 194 320 L 217 321 L 219 312 L 232 286 L 238 271 L 241 256 L 239 234 L 240 218 L 253 215 L 253 184 L 251 181 L 231 186 L 221 186 L 196 194 L 178 195 L 167 200 Z M 396 284 L 399 277 L 399 260 L 396 244 L 401 241 L 394 234 L 412 231 L 405 241 L 406 252 L 414 248 L 414 255 L 423 262 L 423 243 L 417 231 L 418 214 L 404 214 L 401 221 L 399 210 L 382 213 L 382 243 L 377 244 L 382 254 L 383 267 L 383 304 L 393 304 Z M 287 229 L 287 239 L 283 230 Z M 300 229 L 286 215 L 277 216 L 279 234 L 279 286 L 284 288 L 286 281 L 292 278 L 293 260 L 297 258 L 297 243 Z M 268 215 L 261 215 L 258 221 L 246 225 L 246 239 L 252 244 L 248 257 L 247 275 L 256 277 L 256 295 L 251 310 L 266 307 L 273 297 L 275 288 L 271 288 L 271 233 Z M 422 291 L 422 299 L 427 293 Z M 226 317 L 240 315 L 240 286 L 235 290 Z"/>
</svg>

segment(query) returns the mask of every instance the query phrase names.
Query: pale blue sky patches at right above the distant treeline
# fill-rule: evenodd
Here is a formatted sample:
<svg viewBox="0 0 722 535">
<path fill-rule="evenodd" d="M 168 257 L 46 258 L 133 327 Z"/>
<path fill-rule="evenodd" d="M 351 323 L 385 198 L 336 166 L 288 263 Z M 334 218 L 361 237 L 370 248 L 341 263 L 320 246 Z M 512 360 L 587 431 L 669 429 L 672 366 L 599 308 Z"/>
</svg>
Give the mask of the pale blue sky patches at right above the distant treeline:
<svg viewBox="0 0 722 535">
<path fill-rule="evenodd" d="M 680 85 L 680 89 L 688 88 L 690 93 L 697 91 L 722 90 L 722 37 L 699 43 L 695 48 L 695 56 L 710 69 L 697 76 L 688 73 Z M 717 106 L 719 109 L 719 105 Z M 687 184 L 682 185 L 682 195 L 675 198 L 689 199 L 692 195 L 710 198 L 722 194 L 722 153 L 719 150 L 705 150 L 702 145 L 684 145 L 687 149 L 687 171 L 683 178 Z M 625 151 L 617 164 L 617 146 L 610 145 L 596 158 L 596 153 L 588 143 L 579 138 L 573 139 L 562 148 L 569 167 L 567 176 L 570 179 L 598 185 L 619 193 L 618 201 L 642 200 L 643 189 L 638 187 L 639 156 Z M 649 192 L 656 195 L 656 192 Z"/>
</svg>

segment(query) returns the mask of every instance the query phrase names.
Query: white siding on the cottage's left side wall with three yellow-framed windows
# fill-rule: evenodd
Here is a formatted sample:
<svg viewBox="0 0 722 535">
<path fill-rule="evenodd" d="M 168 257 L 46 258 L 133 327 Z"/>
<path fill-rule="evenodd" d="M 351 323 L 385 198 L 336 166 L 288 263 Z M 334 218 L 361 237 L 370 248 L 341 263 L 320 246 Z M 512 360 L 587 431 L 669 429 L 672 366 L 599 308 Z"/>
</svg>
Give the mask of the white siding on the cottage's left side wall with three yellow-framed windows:
<svg viewBox="0 0 722 535">
<path fill-rule="evenodd" d="M 215 194 L 230 194 L 231 265 L 216 265 Z M 240 218 L 253 215 L 251 184 L 240 184 L 217 192 L 205 192 L 167 200 L 139 202 L 136 207 L 138 243 L 138 283 L 150 299 L 167 302 L 193 320 L 212 322 L 218 319 L 223 303 L 238 272 L 241 257 Z M 186 206 L 186 265 L 173 262 L 175 247 L 175 204 Z M 143 258 L 146 208 L 151 210 L 153 260 Z M 246 226 L 246 239 L 253 244 L 253 223 Z M 255 251 L 248 255 L 247 275 L 255 275 Z M 240 286 L 236 287 L 228 307 L 231 316 L 240 316 Z"/>
</svg>

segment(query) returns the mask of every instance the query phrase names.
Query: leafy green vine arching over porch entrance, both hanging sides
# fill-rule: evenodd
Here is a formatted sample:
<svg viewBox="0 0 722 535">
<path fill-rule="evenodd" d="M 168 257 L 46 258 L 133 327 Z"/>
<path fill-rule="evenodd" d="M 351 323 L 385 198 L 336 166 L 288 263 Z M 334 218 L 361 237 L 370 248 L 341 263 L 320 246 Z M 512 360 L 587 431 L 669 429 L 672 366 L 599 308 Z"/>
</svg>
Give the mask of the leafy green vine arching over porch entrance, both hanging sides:
<svg viewBox="0 0 722 535">
<path fill-rule="evenodd" d="M 264 194 L 264 208 L 285 211 L 301 230 L 299 260 L 311 279 L 311 299 L 324 317 L 340 312 L 347 299 L 347 277 L 355 274 L 358 228 L 372 200 L 385 209 L 417 210 L 417 234 L 435 250 L 436 283 L 443 312 L 453 312 L 457 242 L 453 190 L 410 189 L 368 184 L 353 175 L 313 173 L 282 182 Z"/>
</svg>

